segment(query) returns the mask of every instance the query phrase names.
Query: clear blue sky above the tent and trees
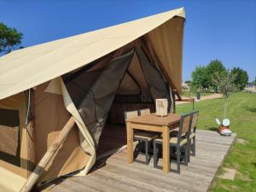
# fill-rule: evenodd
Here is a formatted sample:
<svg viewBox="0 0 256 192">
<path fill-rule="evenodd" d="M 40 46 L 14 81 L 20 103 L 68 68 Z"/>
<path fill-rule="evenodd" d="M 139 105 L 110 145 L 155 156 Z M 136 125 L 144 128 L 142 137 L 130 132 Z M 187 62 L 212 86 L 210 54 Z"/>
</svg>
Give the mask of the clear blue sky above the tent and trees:
<svg viewBox="0 0 256 192">
<path fill-rule="evenodd" d="M 184 7 L 183 80 L 218 59 L 256 77 L 255 0 L 0 0 L 0 22 L 24 34 L 27 47 Z"/>
</svg>

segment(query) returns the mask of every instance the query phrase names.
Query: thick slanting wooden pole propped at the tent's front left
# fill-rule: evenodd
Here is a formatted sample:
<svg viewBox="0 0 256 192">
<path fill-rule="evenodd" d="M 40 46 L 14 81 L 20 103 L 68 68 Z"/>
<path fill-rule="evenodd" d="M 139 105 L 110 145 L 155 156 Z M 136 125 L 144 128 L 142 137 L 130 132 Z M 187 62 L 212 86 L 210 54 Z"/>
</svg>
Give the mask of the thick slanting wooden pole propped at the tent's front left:
<svg viewBox="0 0 256 192">
<path fill-rule="evenodd" d="M 44 157 L 39 161 L 38 166 L 36 166 L 32 174 L 30 175 L 30 177 L 28 177 L 26 183 L 24 184 L 20 192 L 30 191 L 33 185 L 37 183 L 38 178 L 44 171 L 44 168 L 48 165 L 49 160 L 51 160 L 56 150 L 60 147 L 61 143 L 63 143 L 64 139 L 67 137 L 68 132 L 71 131 L 74 124 L 75 124 L 75 121 L 73 117 L 71 117 L 67 121 L 67 124 L 60 131 L 58 137 L 55 138 L 55 142 L 49 146 L 49 149 L 44 154 Z"/>
</svg>

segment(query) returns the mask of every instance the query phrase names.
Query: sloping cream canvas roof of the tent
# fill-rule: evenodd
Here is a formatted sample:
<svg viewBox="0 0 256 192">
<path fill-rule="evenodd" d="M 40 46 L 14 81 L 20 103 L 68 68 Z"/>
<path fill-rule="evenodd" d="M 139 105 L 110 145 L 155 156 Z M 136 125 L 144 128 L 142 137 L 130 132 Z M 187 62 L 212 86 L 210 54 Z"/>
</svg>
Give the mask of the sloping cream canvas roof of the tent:
<svg viewBox="0 0 256 192">
<path fill-rule="evenodd" d="M 184 18 L 184 9 L 175 9 L 3 55 L 0 57 L 0 99 L 43 84 L 95 61 L 151 32 L 174 16 Z M 172 65 L 173 62 L 170 61 L 169 64 Z M 182 63 L 177 64 L 182 66 Z M 177 73 L 175 79 L 177 80 L 173 83 L 179 89 L 181 73 Z"/>
</svg>

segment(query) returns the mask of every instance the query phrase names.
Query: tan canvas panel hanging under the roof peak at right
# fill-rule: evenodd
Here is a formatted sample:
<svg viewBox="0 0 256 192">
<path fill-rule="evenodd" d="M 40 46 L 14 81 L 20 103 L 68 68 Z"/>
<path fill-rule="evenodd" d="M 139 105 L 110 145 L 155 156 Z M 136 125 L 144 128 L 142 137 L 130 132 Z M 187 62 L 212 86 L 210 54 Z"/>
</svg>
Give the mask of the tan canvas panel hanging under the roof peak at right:
<svg viewBox="0 0 256 192">
<path fill-rule="evenodd" d="M 184 18 L 174 17 L 147 35 L 178 93 L 182 90 L 183 25 Z"/>
</svg>

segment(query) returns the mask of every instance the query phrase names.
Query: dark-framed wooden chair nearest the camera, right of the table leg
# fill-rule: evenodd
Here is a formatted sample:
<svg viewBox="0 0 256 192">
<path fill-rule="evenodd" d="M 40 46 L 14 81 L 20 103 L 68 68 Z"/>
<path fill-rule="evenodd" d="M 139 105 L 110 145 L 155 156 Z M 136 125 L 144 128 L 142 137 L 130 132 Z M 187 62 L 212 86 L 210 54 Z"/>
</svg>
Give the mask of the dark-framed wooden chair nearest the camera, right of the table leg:
<svg viewBox="0 0 256 192">
<path fill-rule="evenodd" d="M 189 161 L 189 135 L 191 131 L 191 119 L 192 113 L 183 114 L 181 116 L 180 125 L 177 131 L 177 137 L 170 137 L 169 146 L 170 148 L 176 149 L 176 157 L 177 157 L 177 173 L 180 173 L 180 164 L 181 164 L 181 148 L 185 148 L 185 165 L 188 166 Z M 161 168 L 157 166 L 158 160 L 160 157 L 160 149 L 163 143 L 162 137 L 154 139 L 154 168 Z"/>
</svg>

